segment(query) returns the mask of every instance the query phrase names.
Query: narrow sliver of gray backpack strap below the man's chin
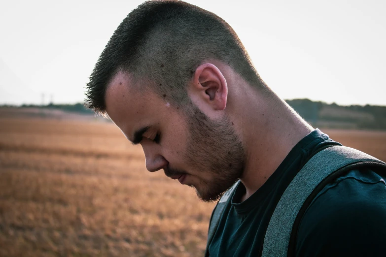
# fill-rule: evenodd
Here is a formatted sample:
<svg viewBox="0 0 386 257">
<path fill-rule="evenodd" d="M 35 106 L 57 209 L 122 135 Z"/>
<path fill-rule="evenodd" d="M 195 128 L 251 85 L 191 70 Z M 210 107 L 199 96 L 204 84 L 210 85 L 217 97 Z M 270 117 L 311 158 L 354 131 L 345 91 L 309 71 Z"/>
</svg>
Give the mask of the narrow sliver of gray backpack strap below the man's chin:
<svg viewBox="0 0 386 257">
<path fill-rule="evenodd" d="M 214 210 L 212 212 L 211 221 L 209 223 L 209 231 L 208 231 L 208 241 L 207 241 L 207 249 L 205 250 L 205 256 L 209 256 L 209 245 L 211 244 L 211 241 L 214 236 L 214 232 L 216 232 L 218 223 L 220 222 L 221 215 L 224 211 L 225 205 L 227 204 L 228 200 L 230 200 L 230 196 L 232 193 L 236 190 L 237 185 L 239 185 L 240 180 L 237 181 L 233 186 L 225 192 L 220 200 L 218 201 L 216 207 L 214 207 Z"/>
</svg>

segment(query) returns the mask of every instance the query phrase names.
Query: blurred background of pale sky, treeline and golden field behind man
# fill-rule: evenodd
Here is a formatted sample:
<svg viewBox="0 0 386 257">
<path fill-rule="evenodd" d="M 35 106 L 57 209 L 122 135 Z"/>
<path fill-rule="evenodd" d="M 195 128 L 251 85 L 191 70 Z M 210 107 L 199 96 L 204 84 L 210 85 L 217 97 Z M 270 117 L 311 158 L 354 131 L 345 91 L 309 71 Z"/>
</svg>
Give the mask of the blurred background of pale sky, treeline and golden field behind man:
<svg viewBox="0 0 386 257">
<path fill-rule="evenodd" d="M 0 8 L 0 256 L 202 256 L 213 203 L 150 174 L 83 106 L 141 0 Z M 386 161 L 386 2 L 191 0 L 227 21 L 263 80 L 315 128 Z"/>
</svg>

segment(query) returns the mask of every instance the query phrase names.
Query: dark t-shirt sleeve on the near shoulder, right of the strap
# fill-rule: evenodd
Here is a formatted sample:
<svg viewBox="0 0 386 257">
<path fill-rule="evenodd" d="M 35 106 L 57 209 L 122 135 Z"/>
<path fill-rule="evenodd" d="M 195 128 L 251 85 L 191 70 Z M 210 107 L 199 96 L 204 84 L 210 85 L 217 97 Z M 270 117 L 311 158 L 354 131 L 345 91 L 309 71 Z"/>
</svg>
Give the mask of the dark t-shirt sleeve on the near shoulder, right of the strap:
<svg viewBox="0 0 386 257">
<path fill-rule="evenodd" d="M 386 184 L 354 170 L 326 186 L 298 228 L 295 256 L 386 256 Z"/>
</svg>

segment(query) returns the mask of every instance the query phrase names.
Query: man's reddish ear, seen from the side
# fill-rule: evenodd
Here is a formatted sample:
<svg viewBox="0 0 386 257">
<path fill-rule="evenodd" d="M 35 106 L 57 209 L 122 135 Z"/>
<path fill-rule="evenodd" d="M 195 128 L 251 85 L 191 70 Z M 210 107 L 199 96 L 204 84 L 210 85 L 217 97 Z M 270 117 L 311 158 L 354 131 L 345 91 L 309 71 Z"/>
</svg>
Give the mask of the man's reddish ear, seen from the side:
<svg viewBox="0 0 386 257">
<path fill-rule="evenodd" d="M 214 110 L 226 107 L 228 85 L 221 71 L 213 64 L 201 64 L 193 75 L 192 93 L 200 102 L 211 105 Z"/>
</svg>

